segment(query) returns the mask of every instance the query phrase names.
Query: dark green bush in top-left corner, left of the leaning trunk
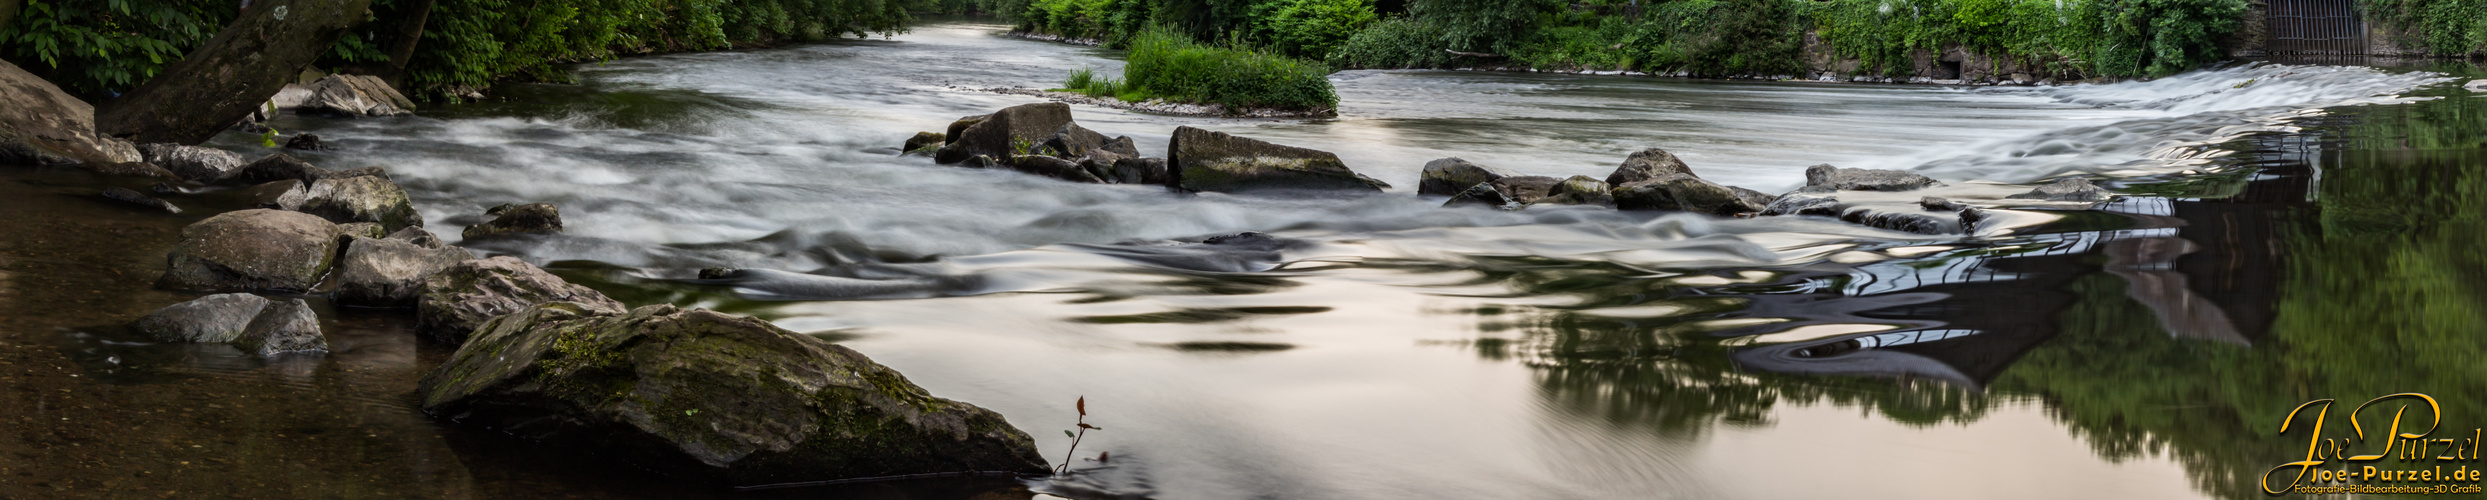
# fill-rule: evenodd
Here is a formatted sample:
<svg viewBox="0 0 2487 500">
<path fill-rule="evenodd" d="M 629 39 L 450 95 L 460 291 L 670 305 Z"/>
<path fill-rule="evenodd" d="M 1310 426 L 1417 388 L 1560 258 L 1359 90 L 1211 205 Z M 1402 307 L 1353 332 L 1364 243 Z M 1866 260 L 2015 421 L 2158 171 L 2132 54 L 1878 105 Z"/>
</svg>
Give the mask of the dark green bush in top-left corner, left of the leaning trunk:
<svg viewBox="0 0 2487 500">
<path fill-rule="evenodd" d="M 236 15 L 209 0 L 27 0 L 0 27 L 0 57 L 87 100 L 132 90 Z"/>
</svg>

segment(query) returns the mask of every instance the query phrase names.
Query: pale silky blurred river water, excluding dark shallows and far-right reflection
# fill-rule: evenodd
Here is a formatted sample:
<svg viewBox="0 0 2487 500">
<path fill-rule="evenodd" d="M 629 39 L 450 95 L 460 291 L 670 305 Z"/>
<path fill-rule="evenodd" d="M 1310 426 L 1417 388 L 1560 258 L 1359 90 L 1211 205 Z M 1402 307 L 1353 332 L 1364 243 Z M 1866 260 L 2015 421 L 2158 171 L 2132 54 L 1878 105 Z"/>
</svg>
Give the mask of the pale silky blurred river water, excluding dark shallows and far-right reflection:
<svg viewBox="0 0 2487 500">
<path fill-rule="evenodd" d="M 445 236 L 485 206 L 560 204 L 567 234 L 475 246 L 634 306 L 841 341 L 1010 415 L 1054 460 L 1084 396 L 1104 430 L 1072 458 L 1082 473 L 1027 483 L 1050 495 L 2191 498 L 2231 488 L 2201 485 L 2184 453 L 2102 453 L 2032 393 L 1990 393 L 2057 333 L 2069 291 L 2097 289 L 2099 259 L 2149 264 L 2116 241 L 2186 226 L 2151 199 L 1920 236 L 1811 216 L 1440 209 L 1413 194 L 1418 172 L 1465 157 L 1604 177 L 1664 147 L 1763 192 L 1838 164 L 2005 204 L 2064 174 L 2141 187 L 2248 169 L 2263 159 L 2241 152 L 2276 149 L 2238 144 L 2323 107 L 2447 82 L 2288 65 L 1980 90 L 1340 72 L 1338 119 L 1074 117 L 1142 152 L 1184 124 L 1326 149 L 1393 192 L 1184 197 L 898 157 L 915 132 L 1035 102 L 980 87 L 1122 70 L 1112 50 L 997 32 L 614 60 L 423 117 L 276 127 L 333 142 L 306 154 L 321 167 L 388 167 Z M 2171 199 L 2206 197 L 2156 201 Z M 1199 244 L 1239 231 L 1278 244 Z M 689 281 L 716 266 L 781 274 Z"/>
</svg>

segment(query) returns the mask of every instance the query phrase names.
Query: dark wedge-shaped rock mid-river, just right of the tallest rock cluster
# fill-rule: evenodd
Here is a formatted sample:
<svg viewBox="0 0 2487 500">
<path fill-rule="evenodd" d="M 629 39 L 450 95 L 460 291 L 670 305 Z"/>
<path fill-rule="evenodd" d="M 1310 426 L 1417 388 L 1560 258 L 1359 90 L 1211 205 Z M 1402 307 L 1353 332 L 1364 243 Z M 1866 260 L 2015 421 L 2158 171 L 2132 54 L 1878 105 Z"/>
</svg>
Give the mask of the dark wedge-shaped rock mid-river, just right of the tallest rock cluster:
<svg viewBox="0 0 2487 500">
<path fill-rule="evenodd" d="M 1390 184 L 1355 174 L 1338 154 L 1281 147 L 1194 127 L 1176 127 L 1166 144 L 1169 184 L 1191 192 L 1350 189 Z"/>
</svg>

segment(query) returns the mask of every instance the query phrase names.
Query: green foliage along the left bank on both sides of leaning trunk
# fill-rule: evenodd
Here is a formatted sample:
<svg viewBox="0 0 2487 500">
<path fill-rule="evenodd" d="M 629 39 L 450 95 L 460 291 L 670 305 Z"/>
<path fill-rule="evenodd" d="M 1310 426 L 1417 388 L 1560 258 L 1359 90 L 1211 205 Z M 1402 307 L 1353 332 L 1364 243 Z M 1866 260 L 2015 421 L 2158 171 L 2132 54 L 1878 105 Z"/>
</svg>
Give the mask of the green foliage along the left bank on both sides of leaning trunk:
<svg viewBox="0 0 2487 500">
<path fill-rule="evenodd" d="M 987 0 L 990 2 L 990 0 Z M 323 65 L 385 62 L 388 25 L 415 0 L 376 0 Z M 930 0 L 438 0 L 405 92 L 440 100 L 497 80 L 557 82 L 560 62 L 724 50 L 788 40 L 893 35 Z M 236 15 L 231 0 L 30 0 L 0 27 L 0 57 L 99 100 L 137 87 Z"/>
</svg>

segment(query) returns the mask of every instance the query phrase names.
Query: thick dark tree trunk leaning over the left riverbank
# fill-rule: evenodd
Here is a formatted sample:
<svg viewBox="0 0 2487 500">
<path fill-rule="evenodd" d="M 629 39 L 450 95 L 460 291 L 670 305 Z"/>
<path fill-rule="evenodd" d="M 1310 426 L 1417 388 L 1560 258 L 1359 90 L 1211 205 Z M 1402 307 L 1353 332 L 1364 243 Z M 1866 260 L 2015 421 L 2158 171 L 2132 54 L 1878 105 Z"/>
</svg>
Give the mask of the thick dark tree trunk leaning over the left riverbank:
<svg viewBox="0 0 2487 500">
<path fill-rule="evenodd" d="M 189 57 L 95 109 L 95 129 L 139 144 L 206 142 L 326 55 L 366 10 L 371 0 L 256 0 Z"/>
</svg>

